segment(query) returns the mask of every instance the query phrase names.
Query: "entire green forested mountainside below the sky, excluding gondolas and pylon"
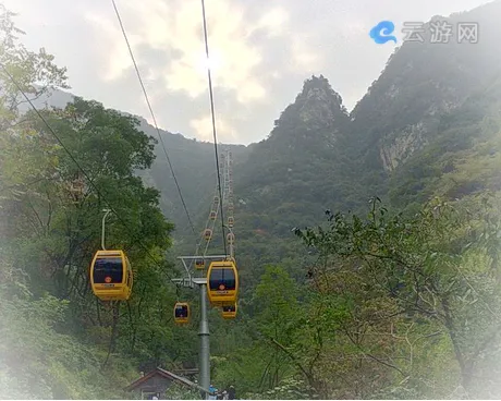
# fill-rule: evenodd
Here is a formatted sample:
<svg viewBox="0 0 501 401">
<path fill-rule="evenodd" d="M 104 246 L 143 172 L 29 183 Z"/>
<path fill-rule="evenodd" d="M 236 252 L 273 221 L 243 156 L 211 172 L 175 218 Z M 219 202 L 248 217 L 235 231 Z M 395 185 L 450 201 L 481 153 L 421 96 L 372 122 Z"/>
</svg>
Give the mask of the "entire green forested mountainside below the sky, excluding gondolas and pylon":
<svg viewBox="0 0 501 401">
<path fill-rule="evenodd" d="M 500 19 L 501 1 L 451 17 L 479 22 L 475 45 L 404 44 L 351 113 L 335 80 L 311 76 L 266 139 L 220 145 L 235 160 L 241 294 L 236 319 L 209 313 L 216 387 L 501 398 Z M 62 93 L 69 72 L 26 50 L 14 20 L 3 10 L 0 396 L 131 398 L 139 372 L 198 364 L 198 296 L 170 281 L 197 239 L 156 130 Z M 160 134 L 201 231 L 213 144 Z M 127 302 L 90 289 L 103 208 L 107 244 L 134 269 Z M 180 299 L 192 304 L 184 327 Z"/>
</svg>

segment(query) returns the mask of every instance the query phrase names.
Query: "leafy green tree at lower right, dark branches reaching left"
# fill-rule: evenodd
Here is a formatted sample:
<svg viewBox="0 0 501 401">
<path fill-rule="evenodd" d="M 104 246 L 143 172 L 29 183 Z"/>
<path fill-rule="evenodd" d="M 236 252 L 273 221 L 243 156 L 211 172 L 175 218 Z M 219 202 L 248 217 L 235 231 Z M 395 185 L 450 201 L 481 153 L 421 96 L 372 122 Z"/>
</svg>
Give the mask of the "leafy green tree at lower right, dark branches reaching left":
<svg viewBox="0 0 501 401">
<path fill-rule="evenodd" d="M 486 387 L 489 376 L 477 375 L 485 372 L 480 355 L 499 347 L 501 300 L 494 252 L 500 226 L 496 214 L 497 208 L 476 198 L 455 205 L 436 200 L 405 219 L 390 216 L 375 200 L 366 220 L 338 214 L 329 217 L 327 229 L 296 232 L 330 258 L 334 268 L 346 263 L 357 266 L 361 285 L 383 290 L 396 313 L 406 317 L 407 328 L 393 326 L 390 335 L 405 340 L 414 355 L 393 366 L 403 378 L 410 377 L 407 387 L 423 387 L 429 379 L 423 366 L 415 366 L 429 364 L 423 354 L 415 356 L 417 349 L 437 345 L 435 337 L 444 335 L 448 341 L 440 347 L 449 348 L 454 356 L 456 384 L 469 394 L 489 393 L 494 391 Z M 418 330 L 410 335 L 413 324 Z M 421 342 L 414 347 L 418 338 Z M 445 368 L 443 360 L 436 363 Z M 447 390 L 451 388 L 439 391 Z"/>
</svg>

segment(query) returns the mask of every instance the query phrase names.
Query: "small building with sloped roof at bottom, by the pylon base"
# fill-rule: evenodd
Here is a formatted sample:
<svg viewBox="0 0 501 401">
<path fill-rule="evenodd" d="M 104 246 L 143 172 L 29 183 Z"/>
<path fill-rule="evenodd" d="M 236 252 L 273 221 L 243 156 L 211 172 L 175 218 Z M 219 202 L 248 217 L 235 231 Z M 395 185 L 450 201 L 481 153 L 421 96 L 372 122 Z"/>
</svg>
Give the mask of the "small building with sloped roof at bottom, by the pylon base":
<svg viewBox="0 0 501 401">
<path fill-rule="evenodd" d="M 136 393 L 142 400 L 151 400 L 154 397 L 160 400 L 172 382 L 178 382 L 182 386 L 201 392 L 208 392 L 208 389 L 204 389 L 187 378 L 175 375 L 172 372 L 162 369 L 161 367 L 157 367 L 155 370 L 139 377 L 136 381 L 129 385 L 125 388 L 125 391 Z"/>
</svg>

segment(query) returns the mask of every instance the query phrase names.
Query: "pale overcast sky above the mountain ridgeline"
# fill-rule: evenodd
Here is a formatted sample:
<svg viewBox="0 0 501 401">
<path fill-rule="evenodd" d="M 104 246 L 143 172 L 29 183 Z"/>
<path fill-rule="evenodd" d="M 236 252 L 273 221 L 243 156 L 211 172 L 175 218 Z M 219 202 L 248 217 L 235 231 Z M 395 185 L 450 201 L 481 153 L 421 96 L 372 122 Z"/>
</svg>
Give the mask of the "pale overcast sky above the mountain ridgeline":
<svg viewBox="0 0 501 401">
<path fill-rule="evenodd" d="M 0 0 L 71 92 L 151 122 L 111 0 Z M 199 0 L 115 0 L 161 129 L 212 141 Z M 218 139 L 259 142 L 311 74 L 352 110 L 405 36 L 402 24 L 484 0 L 206 0 Z M 394 22 L 399 42 L 369 31 Z"/>
</svg>

